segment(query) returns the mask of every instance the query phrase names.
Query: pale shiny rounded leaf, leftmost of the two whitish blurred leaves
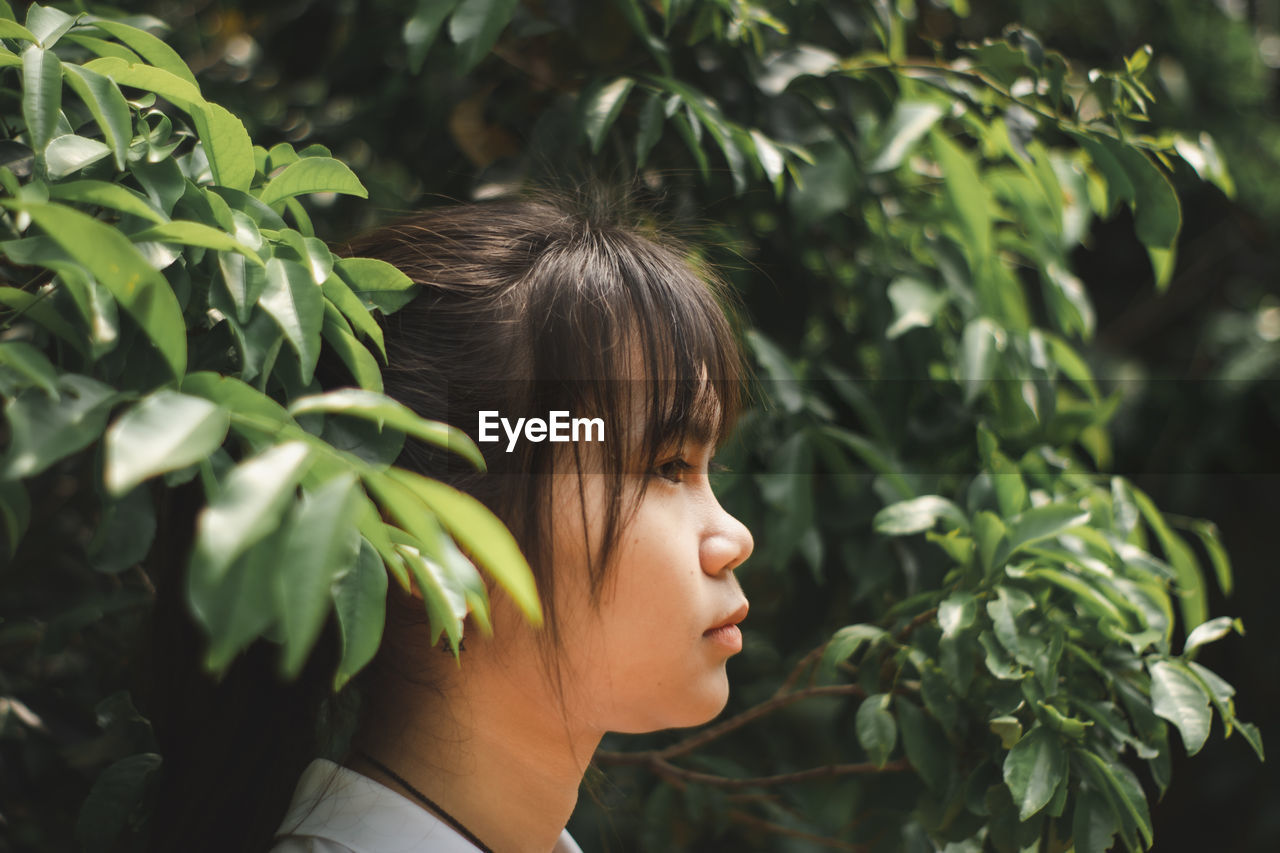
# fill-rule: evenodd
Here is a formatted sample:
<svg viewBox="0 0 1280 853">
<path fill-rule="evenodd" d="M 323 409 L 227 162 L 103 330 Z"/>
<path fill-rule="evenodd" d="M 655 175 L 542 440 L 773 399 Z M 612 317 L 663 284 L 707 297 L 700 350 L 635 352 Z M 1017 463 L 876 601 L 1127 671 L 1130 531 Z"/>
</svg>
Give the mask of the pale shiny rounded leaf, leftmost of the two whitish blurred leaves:
<svg viewBox="0 0 1280 853">
<path fill-rule="evenodd" d="M 161 389 L 134 403 L 106 430 L 102 479 L 120 496 L 157 474 L 193 465 L 221 447 L 230 416 L 202 400 Z"/>
</svg>

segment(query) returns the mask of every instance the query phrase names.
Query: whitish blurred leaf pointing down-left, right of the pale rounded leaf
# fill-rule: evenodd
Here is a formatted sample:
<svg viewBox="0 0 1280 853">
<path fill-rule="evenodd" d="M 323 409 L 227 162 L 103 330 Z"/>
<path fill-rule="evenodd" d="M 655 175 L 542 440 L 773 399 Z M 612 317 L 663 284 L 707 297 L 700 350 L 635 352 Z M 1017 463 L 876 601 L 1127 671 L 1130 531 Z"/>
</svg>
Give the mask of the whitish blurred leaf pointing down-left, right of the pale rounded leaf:
<svg viewBox="0 0 1280 853">
<path fill-rule="evenodd" d="M 310 461 L 305 443 L 285 442 L 232 469 L 196 523 L 191 574 L 216 585 L 233 561 L 275 532 Z"/>
</svg>

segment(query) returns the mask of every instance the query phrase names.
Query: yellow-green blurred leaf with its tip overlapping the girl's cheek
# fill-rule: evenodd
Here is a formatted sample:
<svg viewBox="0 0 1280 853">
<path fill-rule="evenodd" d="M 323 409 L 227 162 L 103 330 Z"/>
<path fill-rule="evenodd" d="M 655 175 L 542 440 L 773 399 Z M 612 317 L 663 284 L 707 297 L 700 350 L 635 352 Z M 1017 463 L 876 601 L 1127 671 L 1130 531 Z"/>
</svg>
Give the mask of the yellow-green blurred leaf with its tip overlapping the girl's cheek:
<svg viewBox="0 0 1280 853">
<path fill-rule="evenodd" d="M 388 474 L 435 511 L 449 535 L 498 581 L 530 624 L 541 625 L 532 570 L 515 537 L 488 507 L 444 483 L 398 469 Z"/>
</svg>

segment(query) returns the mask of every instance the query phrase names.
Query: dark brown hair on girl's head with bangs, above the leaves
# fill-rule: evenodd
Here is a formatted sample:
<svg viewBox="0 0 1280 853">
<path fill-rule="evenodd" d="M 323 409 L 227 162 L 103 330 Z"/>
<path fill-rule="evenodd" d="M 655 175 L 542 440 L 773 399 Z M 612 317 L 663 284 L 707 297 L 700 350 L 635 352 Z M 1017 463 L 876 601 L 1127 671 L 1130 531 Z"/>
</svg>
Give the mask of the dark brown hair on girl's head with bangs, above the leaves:
<svg viewBox="0 0 1280 853">
<path fill-rule="evenodd" d="M 681 243 L 623 225 L 602 201 L 502 201 L 422 211 L 353 241 L 346 254 L 385 260 L 422 292 L 387 318 L 387 393 L 472 438 L 479 412 L 599 416 L 598 455 L 576 443 L 571 471 L 603 474 L 604 530 L 591 590 L 643 496 L 648 471 L 690 438 L 718 443 L 740 400 L 742 366 L 723 287 Z M 451 482 L 511 528 L 534 569 L 556 638 L 550 476 L 566 446 L 480 443 L 488 473 L 428 444 L 399 464 Z"/>
</svg>

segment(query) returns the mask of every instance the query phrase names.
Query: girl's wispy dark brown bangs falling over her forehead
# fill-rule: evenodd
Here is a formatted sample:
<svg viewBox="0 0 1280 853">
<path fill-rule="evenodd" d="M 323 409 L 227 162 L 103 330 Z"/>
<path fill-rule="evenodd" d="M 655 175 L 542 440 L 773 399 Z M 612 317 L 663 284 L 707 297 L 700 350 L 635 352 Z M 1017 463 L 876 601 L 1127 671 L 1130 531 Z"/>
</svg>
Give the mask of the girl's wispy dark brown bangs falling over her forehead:
<svg viewBox="0 0 1280 853">
<path fill-rule="evenodd" d="M 605 420 L 607 469 L 632 467 L 627 457 L 646 467 L 690 442 L 718 447 L 745 373 L 724 286 L 677 246 L 623 232 L 581 238 L 590 251 L 566 252 L 579 269 L 554 250 L 540 265 L 558 283 L 544 289 L 554 296 L 538 319 L 535 373 L 561 378 L 556 396 L 571 411 Z"/>
</svg>

